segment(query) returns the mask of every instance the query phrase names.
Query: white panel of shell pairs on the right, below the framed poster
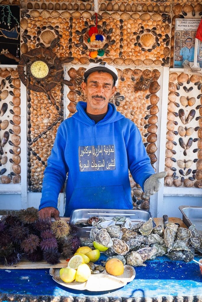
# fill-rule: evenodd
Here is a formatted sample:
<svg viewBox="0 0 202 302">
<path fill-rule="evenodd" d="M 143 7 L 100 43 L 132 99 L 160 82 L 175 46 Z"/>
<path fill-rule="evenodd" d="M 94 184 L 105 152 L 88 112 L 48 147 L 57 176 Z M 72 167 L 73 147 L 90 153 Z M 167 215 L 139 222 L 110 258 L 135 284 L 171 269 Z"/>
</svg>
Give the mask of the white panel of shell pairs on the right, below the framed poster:
<svg viewBox="0 0 202 302">
<path fill-rule="evenodd" d="M 202 188 L 202 79 L 169 76 L 165 186 Z"/>
</svg>

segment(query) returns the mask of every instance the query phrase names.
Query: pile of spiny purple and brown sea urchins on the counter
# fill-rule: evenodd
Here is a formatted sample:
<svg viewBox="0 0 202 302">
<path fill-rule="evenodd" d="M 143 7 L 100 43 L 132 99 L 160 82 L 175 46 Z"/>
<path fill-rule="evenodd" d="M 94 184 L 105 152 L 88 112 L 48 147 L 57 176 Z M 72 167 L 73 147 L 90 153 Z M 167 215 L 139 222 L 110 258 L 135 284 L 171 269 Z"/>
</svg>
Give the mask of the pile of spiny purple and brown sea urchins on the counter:
<svg viewBox="0 0 202 302">
<path fill-rule="evenodd" d="M 22 258 L 50 265 L 70 258 L 80 246 L 77 227 L 64 220 L 41 219 L 34 207 L 7 215 L 0 222 L 0 262 L 16 265 Z"/>
</svg>

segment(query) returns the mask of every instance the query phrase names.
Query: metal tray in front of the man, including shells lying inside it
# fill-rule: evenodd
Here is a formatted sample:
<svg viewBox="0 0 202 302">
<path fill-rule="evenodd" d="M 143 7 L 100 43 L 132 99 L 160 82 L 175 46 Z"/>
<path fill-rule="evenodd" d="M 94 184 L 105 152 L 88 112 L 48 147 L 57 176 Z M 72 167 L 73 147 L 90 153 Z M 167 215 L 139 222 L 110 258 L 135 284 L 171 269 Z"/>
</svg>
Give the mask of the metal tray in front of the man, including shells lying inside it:
<svg viewBox="0 0 202 302">
<path fill-rule="evenodd" d="M 148 221 L 150 217 L 151 213 L 145 210 L 77 209 L 72 211 L 70 222 L 77 225 L 78 236 L 89 238 L 93 226 L 106 228 L 115 224 L 121 226 L 122 223 L 129 223 L 133 226 Z M 91 218 L 94 220 L 93 225 L 90 221 Z M 155 226 L 156 224 L 153 221 L 153 227 Z"/>
</svg>

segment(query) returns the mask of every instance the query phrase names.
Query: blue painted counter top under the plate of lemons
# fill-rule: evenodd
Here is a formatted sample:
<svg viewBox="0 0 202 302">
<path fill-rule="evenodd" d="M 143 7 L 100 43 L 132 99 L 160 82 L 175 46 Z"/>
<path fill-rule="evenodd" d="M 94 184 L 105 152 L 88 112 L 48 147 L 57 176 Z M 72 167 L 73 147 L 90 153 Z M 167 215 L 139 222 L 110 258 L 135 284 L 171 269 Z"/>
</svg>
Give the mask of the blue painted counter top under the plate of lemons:
<svg viewBox="0 0 202 302">
<path fill-rule="evenodd" d="M 102 258 L 105 256 L 102 256 Z M 196 260 L 200 258 L 195 256 Z M 49 275 L 48 269 L 0 270 L 0 300 L 15 300 L 18 297 L 71 297 L 70 301 L 135 300 L 148 301 L 146 298 L 159 298 L 158 301 L 173 301 L 174 297 L 189 297 L 184 301 L 202 301 L 202 276 L 195 262 L 171 261 L 166 256 L 146 261 L 147 266 L 136 267 L 135 279 L 125 287 L 107 292 L 75 291 L 57 284 Z M 13 299 L 8 297 L 14 297 Z M 162 298 L 164 297 L 164 298 Z M 167 298 L 166 298 L 167 297 Z M 197 297 L 197 300 L 194 300 Z M 80 298 L 80 299 L 79 299 Z M 145 299 L 144 299 L 145 298 Z M 166 300 L 165 300 L 166 299 Z M 170 300 L 169 300 L 170 299 Z M 44 299 L 43 299 L 44 300 Z M 46 300 L 46 299 L 45 299 Z M 33 298 L 26 299 L 33 301 Z M 61 301 L 61 300 L 60 300 Z M 67 301 L 67 299 L 65 300 Z M 69 300 L 68 300 L 69 301 Z M 152 301 L 149 300 L 149 301 Z M 175 298 L 175 301 L 176 298 Z M 183 301 L 183 299 L 181 300 Z"/>
</svg>

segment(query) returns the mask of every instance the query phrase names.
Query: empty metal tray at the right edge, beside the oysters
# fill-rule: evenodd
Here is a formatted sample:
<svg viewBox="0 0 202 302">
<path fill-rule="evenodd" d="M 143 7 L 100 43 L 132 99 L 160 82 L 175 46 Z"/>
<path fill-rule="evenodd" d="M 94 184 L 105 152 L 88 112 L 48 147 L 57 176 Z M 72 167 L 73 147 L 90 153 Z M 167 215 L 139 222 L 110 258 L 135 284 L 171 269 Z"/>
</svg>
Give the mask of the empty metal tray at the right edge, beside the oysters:
<svg viewBox="0 0 202 302">
<path fill-rule="evenodd" d="M 202 207 L 180 206 L 182 220 L 187 227 L 195 225 L 197 231 L 202 236 Z"/>
</svg>

